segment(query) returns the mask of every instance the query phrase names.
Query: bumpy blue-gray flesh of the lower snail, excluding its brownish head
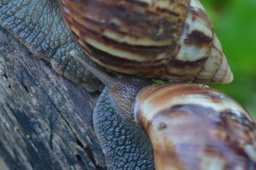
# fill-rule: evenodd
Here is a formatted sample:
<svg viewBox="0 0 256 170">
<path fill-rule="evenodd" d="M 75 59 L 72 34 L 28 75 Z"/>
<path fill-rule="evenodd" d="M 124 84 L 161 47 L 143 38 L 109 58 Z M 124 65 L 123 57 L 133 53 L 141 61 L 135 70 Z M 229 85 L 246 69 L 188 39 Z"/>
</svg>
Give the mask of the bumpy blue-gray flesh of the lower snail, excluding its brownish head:
<svg viewBox="0 0 256 170">
<path fill-rule="evenodd" d="M 148 136 L 131 117 L 115 110 L 107 88 L 98 99 L 93 124 L 108 169 L 154 169 Z"/>
</svg>

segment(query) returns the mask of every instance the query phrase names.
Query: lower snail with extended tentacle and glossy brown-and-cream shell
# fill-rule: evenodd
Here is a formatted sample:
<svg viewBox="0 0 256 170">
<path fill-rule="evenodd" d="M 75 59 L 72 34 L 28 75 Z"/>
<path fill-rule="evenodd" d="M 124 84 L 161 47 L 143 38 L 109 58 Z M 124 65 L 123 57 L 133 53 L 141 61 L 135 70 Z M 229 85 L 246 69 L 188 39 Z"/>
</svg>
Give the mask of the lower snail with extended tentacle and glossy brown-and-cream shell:
<svg viewBox="0 0 256 170">
<path fill-rule="evenodd" d="M 109 169 L 256 168 L 255 120 L 234 99 L 199 84 L 109 76 L 72 55 L 108 87 L 93 124 Z"/>
</svg>

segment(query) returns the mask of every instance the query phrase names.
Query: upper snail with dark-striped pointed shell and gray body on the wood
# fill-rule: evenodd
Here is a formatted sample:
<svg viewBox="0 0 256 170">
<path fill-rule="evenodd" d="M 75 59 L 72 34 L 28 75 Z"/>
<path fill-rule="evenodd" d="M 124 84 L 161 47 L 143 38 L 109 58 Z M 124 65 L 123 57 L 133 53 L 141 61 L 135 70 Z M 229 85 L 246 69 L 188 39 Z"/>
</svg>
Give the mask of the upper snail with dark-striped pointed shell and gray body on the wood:
<svg viewBox="0 0 256 170">
<path fill-rule="evenodd" d="M 81 8 L 86 8 L 82 2 L 91 2 L 91 6 L 87 7 L 92 7 L 90 14 L 93 16 L 87 14 L 86 16 L 94 17 L 91 18 L 94 21 L 90 18 L 87 20 L 98 24 L 90 24 L 99 33 L 96 37 L 108 39 L 110 46 L 104 46 L 103 41 L 105 40 L 99 41 L 99 43 L 103 43 L 102 48 L 113 48 L 111 51 L 115 52 L 116 55 L 122 54 L 127 55 L 128 58 L 134 58 L 131 60 L 119 58 L 109 60 L 111 55 L 115 55 L 112 53 L 108 55 L 108 60 L 102 59 L 102 53 L 104 55 L 108 53 L 94 48 L 92 50 L 92 43 L 89 45 L 90 49 L 83 45 L 84 42 L 79 39 L 84 34 L 84 32 L 79 31 L 83 29 L 77 29 L 75 26 L 79 25 L 79 22 L 74 22 L 74 20 L 79 21 L 79 18 L 84 16 L 79 11 Z M 102 85 L 85 67 L 70 56 L 71 50 L 76 50 L 84 60 L 88 60 L 88 56 L 91 57 L 113 72 L 116 72 L 116 69 L 121 66 L 124 71 L 122 74 L 136 74 L 136 76 L 143 78 L 157 77 L 164 81 L 194 81 L 199 83 L 228 83 L 232 81 L 233 76 L 227 65 L 225 55 L 221 51 L 220 41 L 212 31 L 209 18 L 199 1 L 175 0 L 170 4 L 171 1 L 118 1 L 116 3 L 116 1 L 108 0 L 104 3 L 110 5 L 111 2 L 112 4 L 115 2 L 115 5 L 113 8 L 111 7 L 111 10 L 99 8 L 100 13 L 106 12 L 107 15 L 104 16 L 97 14 L 99 10 L 94 8 L 94 5 L 100 5 L 102 2 L 60 1 L 62 6 L 62 10 L 60 10 L 57 0 L 6 0 L 0 3 L 0 25 L 19 38 L 36 56 L 50 61 L 58 73 L 77 84 L 83 85 L 90 92 L 102 89 Z M 72 9 L 75 6 L 79 6 L 75 10 L 78 15 L 72 15 L 74 12 Z M 166 6 L 170 7 L 166 8 Z M 179 7 L 177 10 L 176 6 Z M 132 9 L 131 11 L 128 9 L 129 7 Z M 174 11 L 172 11 L 173 9 Z M 72 26 L 70 25 L 69 29 L 88 56 L 72 39 L 61 16 L 61 11 L 63 11 L 67 24 L 70 25 L 71 22 Z M 83 12 L 85 11 L 83 10 Z M 118 15 L 117 18 L 115 15 Z M 146 17 L 146 15 L 148 16 Z M 73 16 L 77 17 L 72 18 Z M 124 18 L 124 23 L 123 19 L 120 22 L 120 17 Z M 125 27 L 121 29 L 119 24 L 130 26 L 126 30 Z M 136 25 L 136 27 L 131 27 L 131 25 Z M 110 41 L 111 38 L 113 41 Z M 92 41 L 96 40 L 99 39 L 92 39 Z M 135 44 L 129 44 L 132 42 Z M 93 55 L 93 53 L 98 55 Z M 104 63 L 115 64 L 117 67 L 113 67 L 111 64 L 108 66 Z M 137 66 L 136 63 L 139 65 Z"/>
</svg>

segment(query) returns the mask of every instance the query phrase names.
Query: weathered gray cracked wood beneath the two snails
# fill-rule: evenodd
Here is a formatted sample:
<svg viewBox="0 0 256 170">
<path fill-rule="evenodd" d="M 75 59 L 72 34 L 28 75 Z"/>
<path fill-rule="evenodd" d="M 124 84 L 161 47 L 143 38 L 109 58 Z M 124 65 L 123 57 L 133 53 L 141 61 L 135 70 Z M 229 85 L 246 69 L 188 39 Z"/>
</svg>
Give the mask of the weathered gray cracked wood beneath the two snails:
<svg viewBox="0 0 256 170">
<path fill-rule="evenodd" d="M 98 96 L 0 29 L 0 156 L 10 169 L 106 169 L 92 122 Z"/>
</svg>

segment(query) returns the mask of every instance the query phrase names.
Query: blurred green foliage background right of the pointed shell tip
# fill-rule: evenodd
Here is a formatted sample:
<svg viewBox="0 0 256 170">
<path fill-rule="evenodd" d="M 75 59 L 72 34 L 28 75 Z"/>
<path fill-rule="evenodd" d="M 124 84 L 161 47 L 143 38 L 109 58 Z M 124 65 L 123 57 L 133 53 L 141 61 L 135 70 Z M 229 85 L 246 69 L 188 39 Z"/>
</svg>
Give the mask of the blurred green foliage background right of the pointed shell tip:
<svg viewBox="0 0 256 170">
<path fill-rule="evenodd" d="M 256 120 L 256 1 L 200 1 L 211 18 L 234 74 L 232 83 L 211 87 L 243 104 Z"/>
</svg>

